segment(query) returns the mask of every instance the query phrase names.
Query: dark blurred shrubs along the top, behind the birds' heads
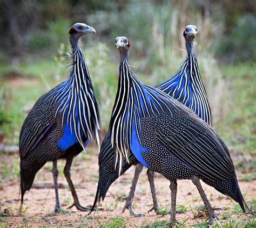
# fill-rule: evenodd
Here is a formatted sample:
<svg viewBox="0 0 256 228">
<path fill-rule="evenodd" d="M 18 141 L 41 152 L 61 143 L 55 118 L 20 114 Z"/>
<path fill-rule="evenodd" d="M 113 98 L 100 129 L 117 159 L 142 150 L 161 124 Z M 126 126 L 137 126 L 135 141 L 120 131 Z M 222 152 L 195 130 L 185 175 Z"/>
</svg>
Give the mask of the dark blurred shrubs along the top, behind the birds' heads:
<svg viewBox="0 0 256 228">
<path fill-rule="evenodd" d="M 205 42 L 214 41 L 208 48 L 218 58 L 226 62 L 256 59 L 253 0 L 2 0 L 0 3 L 0 27 L 4 31 L 0 34 L 0 45 L 9 56 L 49 52 L 60 42 L 66 42 L 66 31 L 72 23 L 82 21 L 93 24 L 97 39 L 102 41 L 126 34 L 136 41 L 142 56 L 147 53 L 145 44 L 152 46 L 154 42 L 152 32 L 160 32 L 165 42 L 173 38 L 170 35 L 181 37 L 184 26 L 194 23 L 200 32 L 208 33 Z M 201 27 L 201 23 L 207 27 Z M 179 39 L 179 45 L 182 41 Z"/>
</svg>

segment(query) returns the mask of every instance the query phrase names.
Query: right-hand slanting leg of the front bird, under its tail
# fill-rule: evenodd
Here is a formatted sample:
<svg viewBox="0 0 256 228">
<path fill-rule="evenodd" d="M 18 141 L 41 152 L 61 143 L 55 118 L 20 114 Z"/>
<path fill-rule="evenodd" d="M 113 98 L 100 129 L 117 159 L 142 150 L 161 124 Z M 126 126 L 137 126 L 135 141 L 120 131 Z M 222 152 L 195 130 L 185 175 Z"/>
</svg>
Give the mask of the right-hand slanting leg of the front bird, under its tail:
<svg viewBox="0 0 256 228">
<path fill-rule="evenodd" d="M 209 226 L 212 224 L 214 218 L 219 220 L 219 218 L 215 214 L 214 210 L 221 210 L 221 208 L 212 208 L 212 205 L 211 205 L 210 201 L 208 201 L 205 191 L 204 191 L 203 187 L 201 186 L 200 180 L 197 176 L 192 176 L 191 180 L 192 180 L 193 184 L 197 187 L 197 190 L 199 191 L 199 194 L 200 194 L 200 196 L 207 208 L 207 211 L 209 213 L 209 221 L 207 223 L 207 226 Z"/>
</svg>

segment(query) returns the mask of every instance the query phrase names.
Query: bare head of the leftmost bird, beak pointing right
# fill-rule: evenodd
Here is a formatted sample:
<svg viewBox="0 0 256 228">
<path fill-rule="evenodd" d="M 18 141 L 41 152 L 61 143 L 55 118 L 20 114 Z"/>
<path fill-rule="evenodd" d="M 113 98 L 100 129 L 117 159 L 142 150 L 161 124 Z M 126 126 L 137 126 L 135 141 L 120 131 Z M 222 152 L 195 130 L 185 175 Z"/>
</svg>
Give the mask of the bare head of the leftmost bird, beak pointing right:
<svg viewBox="0 0 256 228">
<path fill-rule="evenodd" d="M 96 31 L 93 27 L 86 25 L 84 23 L 76 23 L 72 27 L 69 28 L 70 34 L 70 44 L 72 47 L 77 45 L 77 42 L 82 35 L 86 33 L 95 33 Z"/>
</svg>

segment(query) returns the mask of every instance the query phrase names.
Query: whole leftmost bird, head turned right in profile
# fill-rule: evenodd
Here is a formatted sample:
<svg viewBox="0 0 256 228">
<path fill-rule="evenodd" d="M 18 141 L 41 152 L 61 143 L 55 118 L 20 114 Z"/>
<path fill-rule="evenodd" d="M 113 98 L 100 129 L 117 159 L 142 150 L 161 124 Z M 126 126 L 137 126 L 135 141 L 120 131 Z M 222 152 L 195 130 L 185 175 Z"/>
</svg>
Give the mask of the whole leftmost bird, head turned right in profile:
<svg viewBox="0 0 256 228">
<path fill-rule="evenodd" d="M 21 168 L 21 203 L 30 190 L 35 175 L 46 162 L 52 161 L 55 186 L 55 212 L 60 208 L 58 196 L 57 160 L 65 159 L 64 174 L 77 210 L 87 211 L 80 205 L 73 186 L 70 168 L 73 158 L 85 149 L 90 140 L 99 145 L 99 112 L 93 93 L 89 70 L 86 66 L 79 39 L 84 34 L 96 33 L 84 23 L 69 28 L 70 73 L 66 81 L 42 95 L 25 118 L 19 136 Z"/>
</svg>

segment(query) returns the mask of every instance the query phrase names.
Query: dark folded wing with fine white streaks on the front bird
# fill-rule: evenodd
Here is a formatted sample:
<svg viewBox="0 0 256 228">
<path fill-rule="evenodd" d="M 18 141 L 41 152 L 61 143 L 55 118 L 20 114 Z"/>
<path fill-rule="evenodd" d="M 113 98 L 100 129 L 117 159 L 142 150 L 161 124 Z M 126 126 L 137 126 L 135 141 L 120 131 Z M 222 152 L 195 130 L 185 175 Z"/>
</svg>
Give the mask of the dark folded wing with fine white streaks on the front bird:
<svg viewBox="0 0 256 228">
<path fill-rule="evenodd" d="M 223 141 L 203 120 L 188 117 L 186 113 L 175 117 L 176 125 L 160 127 L 154 134 L 160 145 L 185 166 L 211 180 L 226 179 L 232 172 L 232 161 Z M 182 119 L 181 119 L 182 118 Z"/>
</svg>

